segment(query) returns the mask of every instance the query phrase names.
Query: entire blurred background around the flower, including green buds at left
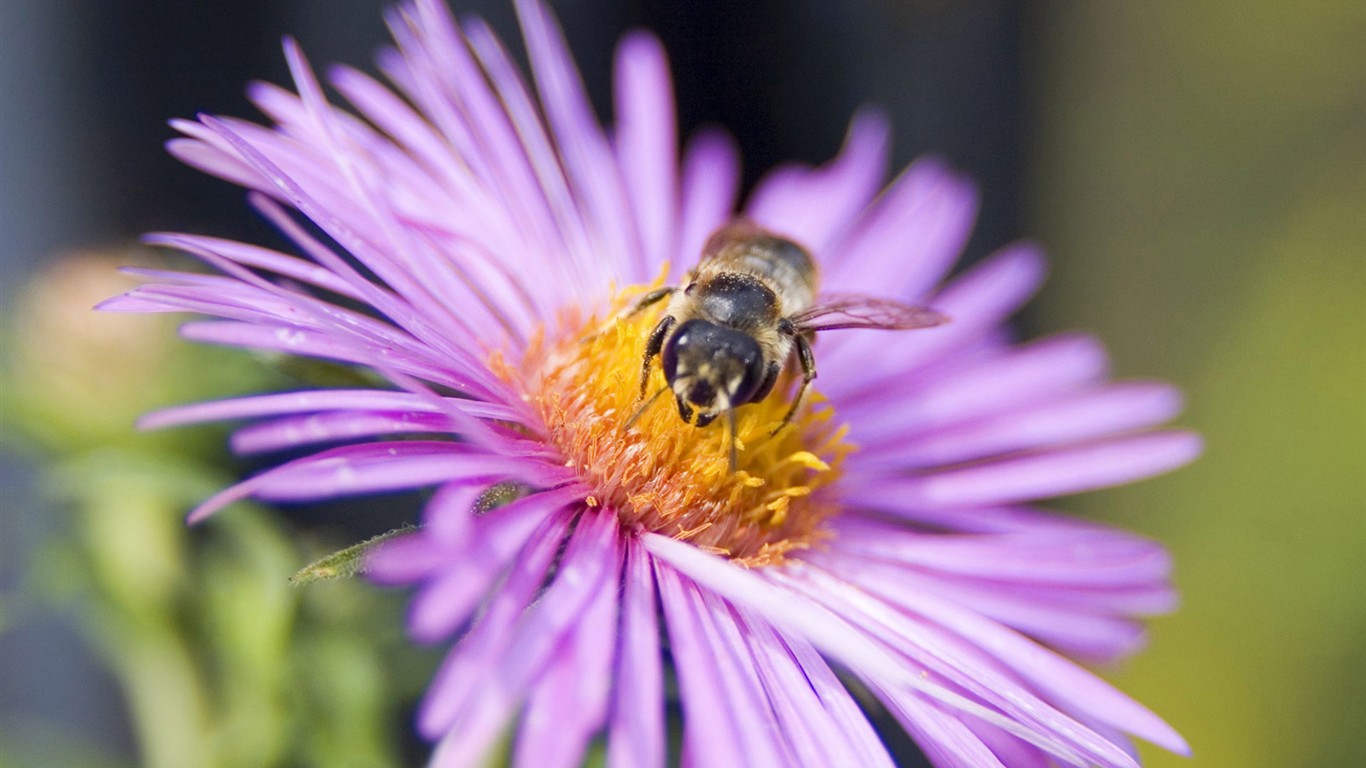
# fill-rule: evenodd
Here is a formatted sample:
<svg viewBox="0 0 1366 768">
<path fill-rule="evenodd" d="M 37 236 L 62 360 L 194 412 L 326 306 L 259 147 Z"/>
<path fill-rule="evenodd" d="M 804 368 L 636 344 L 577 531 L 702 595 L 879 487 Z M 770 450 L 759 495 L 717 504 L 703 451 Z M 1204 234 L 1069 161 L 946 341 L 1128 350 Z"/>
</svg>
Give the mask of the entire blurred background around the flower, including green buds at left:
<svg viewBox="0 0 1366 768">
<path fill-rule="evenodd" d="M 615 40 L 654 29 L 684 131 L 729 127 L 750 182 L 828 159 L 867 102 L 897 164 L 936 152 L 975 176 L 968 258 L 1019 236 L 1052 254 L 1022 333 L 1096 331 L 1119 376 L 1180 384 L 1208 441 L 1173 476 L 1060 504 L 1176 555 L 1183 607 L 1108 675 L 1195 765 L 1361 764 L 1366 5 L 552 4 L 601 113 Z M 134 436 L 131 420 L 287 373 L 85 312 L 122 290 L 111 261 L 148 258 L 130 250 L 143 231 L 277 242 L 236 189 L 164 154 L 165 120 L 254 116 L 243 85 L 284 82 L 285 33 L 316 66 L 367 64 L 385 5 L 0 3 L 0 767 L 227 765 L 234 745 L 240 765 L 421 760 L 393 734 L 432 660 L 374 631 L 402 596 L 284 582 L 414 500 L 184 530 L 191 500 L 250 467 L 221 432 Z M 458 10 L 514 37 L 501 3 Z M 413 679 L 376 653 L 410 655 Z M 326 687 L 339 667 L 346 690 Z M 139 726 L 158 717 L 165 732 Z"/>
</svg>

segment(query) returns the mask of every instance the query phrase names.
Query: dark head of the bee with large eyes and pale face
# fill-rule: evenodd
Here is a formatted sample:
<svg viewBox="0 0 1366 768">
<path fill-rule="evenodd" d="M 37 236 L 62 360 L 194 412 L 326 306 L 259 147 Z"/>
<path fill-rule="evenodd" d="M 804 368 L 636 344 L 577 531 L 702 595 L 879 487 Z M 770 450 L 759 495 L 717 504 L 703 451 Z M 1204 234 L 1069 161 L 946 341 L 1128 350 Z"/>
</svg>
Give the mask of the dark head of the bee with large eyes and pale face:
<svg viewBox="0 0 1366 768">
<path fill-rule="evenodd" d="M 764 350 L 753 336 L 705 320 L 688 320 L 663 350 L 664 379 L 679 415 L 706 426 L 717 414 L 750 402 L 764 380 Z"/>
</svg>

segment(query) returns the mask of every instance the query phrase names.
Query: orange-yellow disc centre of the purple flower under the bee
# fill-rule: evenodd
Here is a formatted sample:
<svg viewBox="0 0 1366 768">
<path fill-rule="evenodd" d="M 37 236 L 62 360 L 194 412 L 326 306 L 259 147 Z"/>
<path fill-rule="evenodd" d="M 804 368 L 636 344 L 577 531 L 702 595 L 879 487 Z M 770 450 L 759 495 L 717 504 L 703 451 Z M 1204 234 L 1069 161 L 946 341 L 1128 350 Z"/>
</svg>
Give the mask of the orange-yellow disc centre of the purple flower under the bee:
<svg viewBox="0 0 1366 768">
<path fill-rule="evenodd" d="M 613 312 L 647 288 L 619 292 Z M 671 392 L 650 404 L 641 398 L 641 362 L 660 313 L 607 324 L 571 318 L 555 339 L 531 344 L 522 370 L 508 373 L 525 383 L 544 437 L 596 489 L 587 504 L 613 511 L 627 529 L 687 540 L 746 566 L 810 547 L 837 510 L 822 489 L 852 450 L 847 430 L 810 391 L 792 421 L 770 435 L 795 394 L 795 374 L 784 373 L 768 398 L 736 409 L 732 471 L 724 415 L 698 428 L 682 420 Z M 646 395 L 664 387 L 654 361 Z"/>
</svg>

